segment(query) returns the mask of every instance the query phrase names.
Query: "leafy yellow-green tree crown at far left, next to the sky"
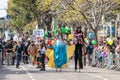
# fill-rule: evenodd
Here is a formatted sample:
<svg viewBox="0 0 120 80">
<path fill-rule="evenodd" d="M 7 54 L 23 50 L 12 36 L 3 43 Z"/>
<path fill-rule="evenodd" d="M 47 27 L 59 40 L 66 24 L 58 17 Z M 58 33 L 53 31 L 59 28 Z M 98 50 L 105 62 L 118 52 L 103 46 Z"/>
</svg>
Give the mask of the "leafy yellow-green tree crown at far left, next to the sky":
<svg viewBox="0 0 120 80">
<path fill-rule="evenodd" d="M 24 4 L 23 3 L 20 3 L 17 0 L 9 0 L 8 2 L 7 12 L 8 14 L 11 15 L 10 25 L 14 26 L 17 30 L 19 28 L 23 28 L 25 25 L 29 24 L 31 21 L 34 21 L 34 15 L 32 14 L 32 12 L 26 10 L 26 8 L 29 8 L 28 6 L 26 6 L 28 3 L 28 0 L 26 1 L 26 3 Z"/>
</svg>

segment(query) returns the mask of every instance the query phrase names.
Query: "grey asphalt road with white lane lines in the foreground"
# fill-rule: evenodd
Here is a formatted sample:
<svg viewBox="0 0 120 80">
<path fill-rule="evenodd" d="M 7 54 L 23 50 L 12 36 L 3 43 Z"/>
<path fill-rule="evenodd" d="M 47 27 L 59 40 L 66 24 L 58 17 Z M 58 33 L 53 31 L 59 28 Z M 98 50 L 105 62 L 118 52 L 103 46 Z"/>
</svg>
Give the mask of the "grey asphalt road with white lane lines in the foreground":
<svg viewBox="0 0 120 80">
<path fill-rule="evenodd" d="M 87 66 L 79 73 L 74 71 L 73 65 L 62 72 L 49 67 L 40 71 L 31 64 L 22 64 L 20 69 L 4 66 L 0 69 L 0 80 L 120 80 L 120 72 Z"/>
</svg>

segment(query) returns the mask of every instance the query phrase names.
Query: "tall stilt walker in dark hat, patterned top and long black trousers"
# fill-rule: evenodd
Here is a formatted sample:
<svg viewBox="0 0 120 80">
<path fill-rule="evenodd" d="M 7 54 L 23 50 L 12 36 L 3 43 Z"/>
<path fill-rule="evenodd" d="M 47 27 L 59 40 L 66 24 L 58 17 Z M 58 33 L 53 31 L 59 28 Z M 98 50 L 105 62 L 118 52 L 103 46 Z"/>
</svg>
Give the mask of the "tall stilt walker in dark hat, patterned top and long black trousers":
<svg viewBox="0 0 120 80">
<path fill-rule="evenodd" d="M 75 71 L 77 70 L 77 62 L 79 61 L 79 71 L 83 69 L 82 63 L 82 47 L 83 47 L 83 32 L 81 26 L 78 26 L 76 32 L 74 33 L 75 41 Z"/>
</svg>

